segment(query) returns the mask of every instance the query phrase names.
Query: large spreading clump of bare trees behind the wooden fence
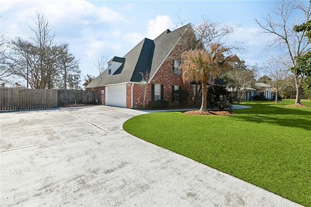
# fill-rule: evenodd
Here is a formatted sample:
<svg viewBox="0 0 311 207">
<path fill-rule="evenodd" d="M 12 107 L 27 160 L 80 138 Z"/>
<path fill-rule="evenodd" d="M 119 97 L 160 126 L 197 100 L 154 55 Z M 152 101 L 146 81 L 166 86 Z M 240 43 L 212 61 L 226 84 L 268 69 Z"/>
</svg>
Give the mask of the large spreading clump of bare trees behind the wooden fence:
<svg viewBox="0 0 311 207">
<path fill-rule="evenodd" d="M 53 88 L 58 80 L 67 88 L 67 77 L 80 74 L 78 63 L 68 44 L 56 44 L 55 33 L 48 19 L 37 13 L 34 36 L 29 40 L 17 37 L 10 42 L 9 65 L 13 73 L 22 77 L 32 88 Z M 58 84 L 59 85 L 59 84 Z"/>
</svg>

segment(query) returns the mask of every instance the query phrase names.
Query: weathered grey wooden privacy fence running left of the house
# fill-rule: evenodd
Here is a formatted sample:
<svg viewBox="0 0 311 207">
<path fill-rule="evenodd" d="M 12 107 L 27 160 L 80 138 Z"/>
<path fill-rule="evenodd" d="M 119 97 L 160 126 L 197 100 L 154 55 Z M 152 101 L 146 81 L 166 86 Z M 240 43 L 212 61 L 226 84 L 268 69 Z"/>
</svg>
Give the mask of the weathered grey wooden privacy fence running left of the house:
<svg viewBox="0 0 311 207">
<path fill-rule="evenodd" d="M 0 88 L 0 110 L 95 104 L 95 90 Z"/>
</svg>

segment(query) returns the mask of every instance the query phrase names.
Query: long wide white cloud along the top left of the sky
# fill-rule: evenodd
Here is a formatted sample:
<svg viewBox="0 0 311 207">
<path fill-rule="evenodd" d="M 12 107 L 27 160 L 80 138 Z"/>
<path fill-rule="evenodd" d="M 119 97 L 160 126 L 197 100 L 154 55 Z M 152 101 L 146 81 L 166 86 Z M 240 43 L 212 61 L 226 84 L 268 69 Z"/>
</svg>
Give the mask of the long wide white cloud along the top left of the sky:
<svg viewBox="0 0 311 207">
<path fill-rule="evenodd" d="M 47 17 L 52 24 L 115 23 L 126 21 L 118 12 L 106 7 L 96 7 L 86 0 L 2 0 L 3 13 L 13 10 L 16 19 L 34 19 L 35 11 Z"/>
</svg>

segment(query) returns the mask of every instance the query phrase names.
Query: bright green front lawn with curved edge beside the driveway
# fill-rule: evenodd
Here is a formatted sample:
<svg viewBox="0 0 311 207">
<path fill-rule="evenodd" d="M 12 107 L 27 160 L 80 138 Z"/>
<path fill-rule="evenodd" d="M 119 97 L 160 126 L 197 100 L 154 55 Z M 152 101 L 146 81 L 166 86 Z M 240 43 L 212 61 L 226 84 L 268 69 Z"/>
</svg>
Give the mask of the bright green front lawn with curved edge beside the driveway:
<svg viewBox="0 0 311 207">
<path fill-rule="evenodd" d="M 311 107 L 293 100 L 245 102 L 233 116 L 150 113 L 123 124 L 128 133 L 311 206 Z M 311 101 L 302 104 L 311 106 Z"/>
</svg>

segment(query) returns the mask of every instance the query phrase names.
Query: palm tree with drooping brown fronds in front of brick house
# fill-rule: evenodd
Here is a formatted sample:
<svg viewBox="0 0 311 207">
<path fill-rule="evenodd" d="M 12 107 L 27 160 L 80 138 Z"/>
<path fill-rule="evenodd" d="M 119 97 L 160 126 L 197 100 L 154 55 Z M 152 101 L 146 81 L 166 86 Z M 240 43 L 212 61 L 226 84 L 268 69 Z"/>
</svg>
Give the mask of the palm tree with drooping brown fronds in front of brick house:
<svg viewBox="0 0 311 207">
<path fill-rule="evenodd" d="M 239 62 L 236 55 L 224 56 L 230 49 L 219 43 L 211 44 L 209 50 L 191 50 L 183 52 L 180 71 L 184 82 L 201 81 L 202 105 L 200 111 L 206 111 L 207 104 L 207 81 L 215 79 L 223 72 L 232 69 L 232 63 Z"/>
</svg>

